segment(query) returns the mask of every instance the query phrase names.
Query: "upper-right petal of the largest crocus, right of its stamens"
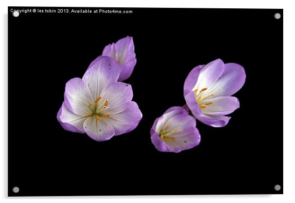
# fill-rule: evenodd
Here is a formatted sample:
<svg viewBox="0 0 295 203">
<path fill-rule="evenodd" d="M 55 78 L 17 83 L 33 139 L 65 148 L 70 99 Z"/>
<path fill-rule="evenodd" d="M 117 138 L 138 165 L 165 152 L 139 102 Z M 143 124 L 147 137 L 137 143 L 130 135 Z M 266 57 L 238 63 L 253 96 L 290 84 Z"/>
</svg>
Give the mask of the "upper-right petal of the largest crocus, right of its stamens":
<svg viewBox="0 0 295 203">
<path fill-rule="evenodd" d="M 132 87 L 124 82 L 113 82 L 106 86 L 101 93 L 101 102 L 108 99 L 108 109 L 104 114 L 117 114 L 125 110 L 133 97 Z"/>
</svg>

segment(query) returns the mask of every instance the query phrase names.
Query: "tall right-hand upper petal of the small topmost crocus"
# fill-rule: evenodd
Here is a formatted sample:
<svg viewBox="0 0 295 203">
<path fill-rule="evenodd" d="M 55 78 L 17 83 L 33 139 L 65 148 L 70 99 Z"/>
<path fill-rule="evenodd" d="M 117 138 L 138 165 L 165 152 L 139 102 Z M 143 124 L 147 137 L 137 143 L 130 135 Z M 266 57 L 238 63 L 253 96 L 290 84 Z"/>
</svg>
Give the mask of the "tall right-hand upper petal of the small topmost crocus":
<svg viewBox="0 0 295 203">
<path fill-rule="evenodd" d="M 117 61 L 123 64 L 135 58 L 134 43 L 132 37 L 125 37 L 116 42 L 118 49 Z"/>
</svg>

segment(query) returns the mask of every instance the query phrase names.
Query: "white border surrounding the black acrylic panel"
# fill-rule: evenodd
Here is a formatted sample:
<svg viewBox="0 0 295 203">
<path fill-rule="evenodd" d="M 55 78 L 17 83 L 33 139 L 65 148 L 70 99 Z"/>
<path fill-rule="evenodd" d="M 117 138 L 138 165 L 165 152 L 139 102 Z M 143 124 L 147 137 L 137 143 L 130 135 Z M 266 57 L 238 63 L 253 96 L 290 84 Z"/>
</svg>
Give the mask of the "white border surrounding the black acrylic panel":
<svg viewBox="0 0 295 203">
<path fill-rule="evenodd" d="M 0 49 L 0 197 L 7 201 L 7 6 L 84 6 L 84 7 L 193 7 L 193 8 L 283 8 L 284 9 L 284 195 L 216 195 L 216 196 L 121 196 L 121 197 L 47 197 L 47 198 L 9 198 L 16 202 L 21 200 L 25 203 L 31 202 L 51 202 L 70 199 L 71 202 L 80 202 L 81 199 L 87 199 L 92 202 L 117 202 L 137 203 L 137 202 L 163 202 L 169 200 L 171 203 L 183 202 L 219 202 L 219 203 L 278 203 L 295 202 L 295 7 L 292 0 L 148 0 L 145 2 L 139 0 L 1 0 L 1 44 Z M 17 47 L 16 47 L 17 48 Z M 276 50 L 273 50 L 276 51 Z M 270 59 L 271 60 L 271 59 Z M 268 71 L 268 67 L 261 67 Z M 277 67 L 278 69 L 282 67 Z M 275 85 L 276 81 L 270 84 Z M 258 101 L 273 102 L 273 109 L 280 107 L 281 98 L 278 102 L 274 97 L 271 101 L 265 101 L 268 97 L 263 95 Z M 255 115 L 255 109 L 253 109 Z M 263 115 L 261 116 L 263 119 Z M 273 118 L 276 119 L 276 118 Z M 261 126 L 271 127 L 271 126 Z M 98 183 L 99 184 L 99 183 Z M 41 200 L 37 200 L 41 199 Z M 54 200 L 53 200 L 54 199 Z"/>
</svg>

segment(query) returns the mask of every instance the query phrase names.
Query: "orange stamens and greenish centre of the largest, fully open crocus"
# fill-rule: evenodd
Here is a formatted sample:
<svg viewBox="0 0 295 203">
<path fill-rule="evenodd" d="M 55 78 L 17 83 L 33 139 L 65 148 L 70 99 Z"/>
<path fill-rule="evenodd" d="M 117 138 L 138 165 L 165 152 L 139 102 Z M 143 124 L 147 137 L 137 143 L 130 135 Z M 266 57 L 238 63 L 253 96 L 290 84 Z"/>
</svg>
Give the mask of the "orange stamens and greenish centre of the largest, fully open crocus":
<svg viewBox="0 0 295 203">
<path fill-rule="evenodd" d="M 94 116 L 97 121 L 101 120 L 102 117 L 109 117 L 110 114 L 103 114 L 103 111 L 108 109 L 109 100 L 106 99 L 104 102 L 99 103 L 101 97 L 99 96 L 93 103 L 89 103 L 88 107 L 91 110 L 91 113 L 86 113 L 86 116 Z"/>
</svg>

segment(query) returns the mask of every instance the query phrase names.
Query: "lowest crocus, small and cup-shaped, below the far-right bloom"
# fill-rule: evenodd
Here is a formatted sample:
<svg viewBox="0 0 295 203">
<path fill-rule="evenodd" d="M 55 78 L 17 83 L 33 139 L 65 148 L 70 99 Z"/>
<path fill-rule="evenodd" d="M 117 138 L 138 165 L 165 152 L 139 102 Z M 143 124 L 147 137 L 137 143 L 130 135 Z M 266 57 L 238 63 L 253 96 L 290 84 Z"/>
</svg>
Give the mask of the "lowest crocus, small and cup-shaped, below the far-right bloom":
<svg viewBox="0 0 295 203">
<path fill-rule="evenodd" d="M 175 152 L 197 146 L 201 137 L 196 119 L 180 106 L 169 108 L 150 129 L 151 142 L 161 152 Z"/>
</svg>

